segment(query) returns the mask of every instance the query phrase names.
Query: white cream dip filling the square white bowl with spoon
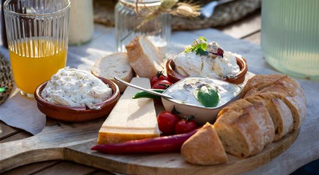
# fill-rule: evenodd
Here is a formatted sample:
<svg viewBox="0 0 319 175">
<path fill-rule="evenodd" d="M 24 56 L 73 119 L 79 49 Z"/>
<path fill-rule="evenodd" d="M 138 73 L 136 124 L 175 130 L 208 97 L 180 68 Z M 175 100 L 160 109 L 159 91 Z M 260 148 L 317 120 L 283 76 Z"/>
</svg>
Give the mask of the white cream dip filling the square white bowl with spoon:
<svg viewBox="0 0 319 175">
<path fill-rule="evenodd" d="M 223 106 L 223 104 L 227 103 L 241 92 L 240 87 L 231 83 L 209 78 L 195 77 L 177 82 L 168 88 L 165 91 L 165 94 L 174 97 L 173 100 L 191 104 L 193 106 L 204 107 L 201 102 L 196 99 L 194 90 L 207 84 L 214 87 L 220 95 L 220 100 L 215 108 Z"/>
</svg>

